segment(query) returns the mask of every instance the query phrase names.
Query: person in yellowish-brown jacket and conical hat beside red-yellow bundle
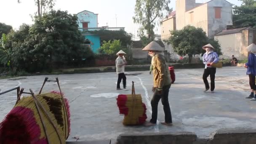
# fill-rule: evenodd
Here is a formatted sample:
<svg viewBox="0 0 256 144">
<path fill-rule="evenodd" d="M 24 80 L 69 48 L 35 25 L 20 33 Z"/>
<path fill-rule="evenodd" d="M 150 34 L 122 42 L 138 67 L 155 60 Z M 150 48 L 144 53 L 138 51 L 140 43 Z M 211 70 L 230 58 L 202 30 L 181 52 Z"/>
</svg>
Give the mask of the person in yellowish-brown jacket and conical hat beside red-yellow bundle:
<svg viewBox="0 0 256 144">
<path fill-rule="evenodd" d="M 151 120 L 144 125 L 156 125 L 157 107 L 160 99 L 162 101 L 163 110 L 165 113 L 165 121 L 161 122 L 161 124 L 172 125 L 171 109 L 168 101 L 169 89 L 171 87 L 171 76 L 168 69 L 168 64 L 163 56 L 163 48 L 155 41 L 152 41 L 145 48 L 143 48 L 142 51 L 148 51 L 149 56 L 154 57 L 151 63 L 153 68 L 152 72 L 154 82 L 154 86 L 152 88 L 154 95 L 151 100 L 152 117 Z"/>
</svg>

